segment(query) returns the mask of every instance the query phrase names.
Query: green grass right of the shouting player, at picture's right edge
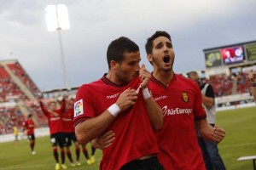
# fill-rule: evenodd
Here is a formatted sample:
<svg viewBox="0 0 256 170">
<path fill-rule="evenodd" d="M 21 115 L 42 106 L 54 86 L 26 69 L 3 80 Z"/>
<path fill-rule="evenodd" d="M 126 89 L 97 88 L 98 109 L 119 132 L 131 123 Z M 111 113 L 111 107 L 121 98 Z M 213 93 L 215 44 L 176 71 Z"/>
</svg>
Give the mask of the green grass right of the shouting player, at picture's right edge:
<svg viewBox="0 0 256 170">
<path fill-rule="evenodd" d="M 256 155 L 256 107 L 220 111 L 217 124 L 226 131 L 218 145 L 228 170 L 253 169 L 253 161 L 237 161 L 241 156 Z"/>
</svg>

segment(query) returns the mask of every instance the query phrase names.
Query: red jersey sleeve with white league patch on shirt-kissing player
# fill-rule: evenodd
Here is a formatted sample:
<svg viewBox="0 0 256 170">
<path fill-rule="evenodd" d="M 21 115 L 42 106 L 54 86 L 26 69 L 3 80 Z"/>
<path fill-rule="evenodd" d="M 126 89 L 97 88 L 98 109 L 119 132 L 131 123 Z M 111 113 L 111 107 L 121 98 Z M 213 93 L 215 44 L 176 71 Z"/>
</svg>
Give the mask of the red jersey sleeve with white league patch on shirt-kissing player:
<svg viewBox="0 0 256 170">
<path fill-rule="evenodd" d="M 79 88 L 73 110 L 73 124 L 76 126 L 79 122 L 84 122 L 88 118 L 95 117 L 93 107 L 93 93 L 88 85 Z"/>
</svg>

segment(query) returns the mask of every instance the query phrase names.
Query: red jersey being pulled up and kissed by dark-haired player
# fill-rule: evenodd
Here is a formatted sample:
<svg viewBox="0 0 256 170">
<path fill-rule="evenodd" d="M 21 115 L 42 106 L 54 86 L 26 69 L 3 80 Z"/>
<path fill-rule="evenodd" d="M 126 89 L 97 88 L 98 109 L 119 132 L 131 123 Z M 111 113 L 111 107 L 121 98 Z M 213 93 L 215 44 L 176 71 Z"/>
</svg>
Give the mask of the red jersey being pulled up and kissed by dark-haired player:
<svg viewBox="0 0 256 170">
<path fill-rule="evenodd" d="M 74 105 L 74 125 L 99 116 L 115 103 L 125 89 L 137 89 L 140 84 L 138 77 L 125 87 L 110 82 L 106 77 L 84 84 L 79 88 Z M 128 161 L 159 152 L 143 102 L 143 94 L 139 91 L 136 105 L 119 113 L 108 127 L 107 131 L 115 133 L 115 140 L 103 150 L 102 170 L 119 170 Z"/>
</svg>

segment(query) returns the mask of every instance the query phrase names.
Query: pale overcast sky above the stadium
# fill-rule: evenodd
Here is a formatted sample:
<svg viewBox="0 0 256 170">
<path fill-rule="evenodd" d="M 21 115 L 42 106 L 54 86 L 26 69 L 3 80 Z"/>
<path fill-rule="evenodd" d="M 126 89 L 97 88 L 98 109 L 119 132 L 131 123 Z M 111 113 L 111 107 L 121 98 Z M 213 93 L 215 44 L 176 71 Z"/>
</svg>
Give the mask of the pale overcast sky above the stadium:
<svg viewBox="0 0 256 170">
<path fill-rule="evenodd" d="M 205 69 L 203 49 L 256 40 L 255 0 L 0 0 L 0 60 L 18 59 L 40 90 L 63 88 L 57 31 L 48 32 L 45 8 L 67 5 L 71 29 L 61 31 L 70 86 L 108 72 L 109 42 L 144 44 L 154 31 L 172 36 L 174 71 Z"/>
</svg>

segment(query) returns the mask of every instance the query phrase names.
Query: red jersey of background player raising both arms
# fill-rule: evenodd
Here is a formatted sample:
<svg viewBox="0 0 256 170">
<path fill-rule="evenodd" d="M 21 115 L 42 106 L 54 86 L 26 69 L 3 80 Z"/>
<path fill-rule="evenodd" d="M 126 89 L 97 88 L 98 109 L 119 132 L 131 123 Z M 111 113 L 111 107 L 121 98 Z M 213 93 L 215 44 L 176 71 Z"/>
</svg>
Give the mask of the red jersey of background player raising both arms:
<svg viewBox="0 0 256 170">
<path fill-rule="evenodd" d="M 39 102 L 39 104 L 41 106 L 42 111 L 44 112 L 44 115 L 47 116 L 47 118 L 48 118 L 49 133 L 50 134 L 62 133 L 63 127 L 62 127 L 62 122 L 61 122 L 61 116 L 62 116 L 64 108 L 65 108 L 65 100 L 64 99 L 62 100 L 61 109 L 55 111 L 57 116 L 54 116 L 49 111 L 47 111 L 44 108 L 44 105 L 42 102 Z"/>
</svg>

